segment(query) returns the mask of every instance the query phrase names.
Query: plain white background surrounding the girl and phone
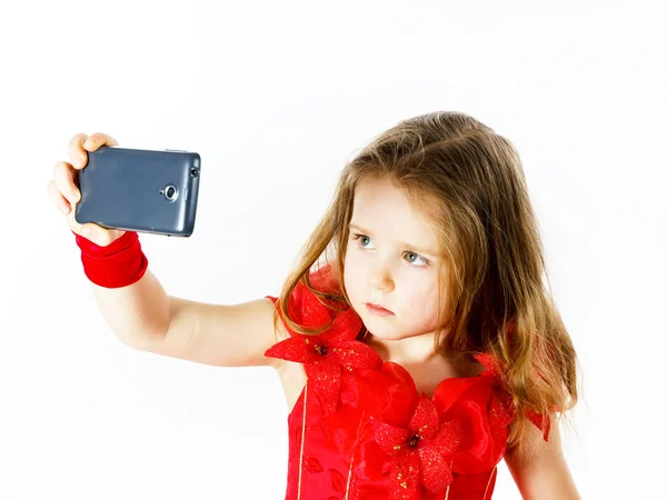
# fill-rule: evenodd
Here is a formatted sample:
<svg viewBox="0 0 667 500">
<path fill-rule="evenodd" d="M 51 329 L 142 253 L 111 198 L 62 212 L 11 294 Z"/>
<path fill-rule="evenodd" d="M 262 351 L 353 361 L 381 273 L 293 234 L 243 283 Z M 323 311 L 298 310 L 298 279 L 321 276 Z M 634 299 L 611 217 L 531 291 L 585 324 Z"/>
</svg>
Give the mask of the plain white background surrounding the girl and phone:
<svg viewBox="0 0 667 500">
<path fill-rule="evenodd" d="M 355 152 L 434 110 L 521 156 L 584 369 L 581 494 L 664 492 L 661 2 L 459 3 L 3 3 L 0 500 L 285 497 L 271 369 L 132 351 L 98 313 L 47 198 L 74 133 L 201 154 L 192 238 L 141 241 L 169 293 L 236 303 L 279 291 Z M 520 498 L 504 464 L 494 498 Z"/>
</svg>

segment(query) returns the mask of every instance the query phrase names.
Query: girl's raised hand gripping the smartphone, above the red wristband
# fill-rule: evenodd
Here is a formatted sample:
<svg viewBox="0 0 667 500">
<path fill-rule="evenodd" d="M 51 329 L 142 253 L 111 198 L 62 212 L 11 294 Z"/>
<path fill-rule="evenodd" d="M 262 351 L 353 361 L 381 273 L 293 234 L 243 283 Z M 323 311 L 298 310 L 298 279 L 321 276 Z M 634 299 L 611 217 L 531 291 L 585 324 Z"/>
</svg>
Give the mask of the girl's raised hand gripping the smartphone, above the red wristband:
<svg viewBox="0 0 667 500">
<path fill-rule="evenodd" d="M 48 192 L 53 206 L 67 216 L 67 222 L 74 233 L 100 247 L 107 247 L 123 236 L 125 231 L 102 228 L 92 222 L 80 224 L 74 219 L 77 203 L 81 200 L 81 191 L 77 186 L 79 170 L 88 163 L 88 151 L 94 151 L 101 146 L 118 146 L 118 142 L 104 133 L 93 133 L 90 137 L 77 133 L 68 144 L 71 163 L 56 163 Z"/>
</svg>

